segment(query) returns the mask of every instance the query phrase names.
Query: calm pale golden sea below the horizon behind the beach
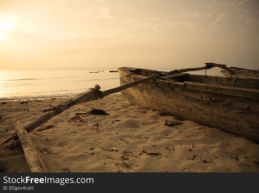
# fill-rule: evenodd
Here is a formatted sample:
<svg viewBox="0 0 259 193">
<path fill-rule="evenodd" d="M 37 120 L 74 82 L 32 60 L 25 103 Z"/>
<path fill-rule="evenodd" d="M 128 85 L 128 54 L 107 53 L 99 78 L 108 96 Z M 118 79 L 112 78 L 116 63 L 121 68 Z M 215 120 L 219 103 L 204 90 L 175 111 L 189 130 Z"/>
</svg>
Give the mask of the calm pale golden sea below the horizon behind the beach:
<svg viewBox="0 0 259 193">
<path fill-rule="evenodd" d="M 171 71 L 180 68 L 152 68 Z M 53 97 L 72 97 L 95 84 L 101 90 L 119 86 L 119 73 L 110 73 L 117 68 L 62 68 L 62 69 L 11 69 L 0 70 L 0 101 L 29 100 Z M 207 75 L 218 75 L 220 68 L 207 70 Z M 103 71 L 99 73 L 89 73 Z M 204 71 L 192 72 L 205 74 Z"/>
</svg>

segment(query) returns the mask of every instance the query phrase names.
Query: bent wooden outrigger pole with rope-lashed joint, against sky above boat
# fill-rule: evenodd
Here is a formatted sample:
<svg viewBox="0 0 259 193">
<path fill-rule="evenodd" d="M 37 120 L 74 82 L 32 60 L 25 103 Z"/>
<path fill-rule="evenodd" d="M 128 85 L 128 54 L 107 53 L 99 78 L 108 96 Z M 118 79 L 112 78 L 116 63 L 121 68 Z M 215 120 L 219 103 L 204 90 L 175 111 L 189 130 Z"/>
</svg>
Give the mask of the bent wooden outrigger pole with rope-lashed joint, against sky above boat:
<svg viewBox="0 0 259 193">
<path fill-rule="evenodd" d="M 173 70 L 170 72 L 164 72 L 164 75 L 170 75 L 170 74 L 175 74 L 175 73 L 182 73 L 182 72 L 190 72 L 190 71 L 201 71 L 201 70 L 207 70 L 210 68 L 215 68 L 215 67 L 219 67 L 222 69 L 225 69 L 227 71 L 229 71 L 229 73 L 233 74 L 233 71 L 231 71 L 228 67 L 226 67 L 225 64 L 216 64 L 216 63 L 205 63 L 206 66 L 203 67 L 198 67 L 198 68 L 185 68 L 185 69 L 180 69 L 180 70 Z"/>
</svg>

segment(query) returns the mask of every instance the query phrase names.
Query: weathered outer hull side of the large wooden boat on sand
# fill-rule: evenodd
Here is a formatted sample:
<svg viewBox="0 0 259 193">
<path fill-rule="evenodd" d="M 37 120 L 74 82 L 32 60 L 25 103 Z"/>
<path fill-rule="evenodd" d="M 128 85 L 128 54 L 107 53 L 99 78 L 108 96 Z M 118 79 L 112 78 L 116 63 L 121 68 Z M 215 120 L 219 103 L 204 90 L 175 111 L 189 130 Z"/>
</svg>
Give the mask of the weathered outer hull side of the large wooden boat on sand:
<svg viewBox="0 0 259 193">
<path fill-rule="evenodd" d="M 143 78 L 119 68 L 120 84 Z M 193 84 L 190 84 L 193 85 Z M 195 85 L 195 84 L 194 84 Z M 205 85 L 205 84 L 204 84 Z M 201 125 L 216 127 L 228 133 L 259 142 L 259 100 L 258 92 L 240 97 L 238 91 L 228 90 L 228 94 L 214 93 L 206 85 L 204 89 L 194 90 L 187 83 L 167 80 L 152 80 L 122 91 L 126 100 L 146 109 L 170 113 Z M 231 89 L 231 87 L 229 87 Z M 207 90 L 206 90 L 207 89 Z M 215 88 L 215 92 L 218 88 Z M 234 94 L 233 94 L 234 92 Z M 231 95 L 233 94 L 233 95 Z M 242 95 L 243 96 L 243 95 Z M 249 98 L 250 97 L 250 98 Z"/>
</svg>

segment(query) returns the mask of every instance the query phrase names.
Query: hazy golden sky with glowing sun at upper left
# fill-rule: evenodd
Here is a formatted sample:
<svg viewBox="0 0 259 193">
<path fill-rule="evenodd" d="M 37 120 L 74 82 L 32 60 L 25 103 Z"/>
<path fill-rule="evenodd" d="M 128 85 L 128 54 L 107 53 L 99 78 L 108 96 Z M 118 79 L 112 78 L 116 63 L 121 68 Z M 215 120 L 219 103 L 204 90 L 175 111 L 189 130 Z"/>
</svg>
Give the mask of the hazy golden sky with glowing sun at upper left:
<svg viewBox="0 0 259 193">
<path fill-rule="evenodd" d="M 0 0 L 0 68 L 259 68 L 258 0 Z"/>
</svg>

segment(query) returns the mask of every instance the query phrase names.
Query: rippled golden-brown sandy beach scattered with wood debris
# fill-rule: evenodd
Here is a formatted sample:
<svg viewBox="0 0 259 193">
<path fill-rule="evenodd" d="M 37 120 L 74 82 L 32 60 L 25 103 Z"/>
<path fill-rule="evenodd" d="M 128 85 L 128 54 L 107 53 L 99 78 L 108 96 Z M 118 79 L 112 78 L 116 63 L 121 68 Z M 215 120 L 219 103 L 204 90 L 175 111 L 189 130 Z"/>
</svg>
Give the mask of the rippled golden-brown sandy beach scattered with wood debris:
<svg viewBox="0 0 259 193">
<path fill-rule="evenodd" d="M 65 100 L 1 103 L 1 141 L 14 132 L 15 122 L 26 126 L 43 115 L 43 109 Z M 109 115 L 75 115 L 91 108 L 101 108 Z M 129 103 L 121 95 L 111 95 L 69 108 L 30 136 L 49 172 L 259 171 L 257 143 L 174 118 Z M 169 127 L 165 120 L 182 124 Z M 19 144 L 11 144 L 1 145 L 1 170 L 30 172 Z"/>
</svg>

